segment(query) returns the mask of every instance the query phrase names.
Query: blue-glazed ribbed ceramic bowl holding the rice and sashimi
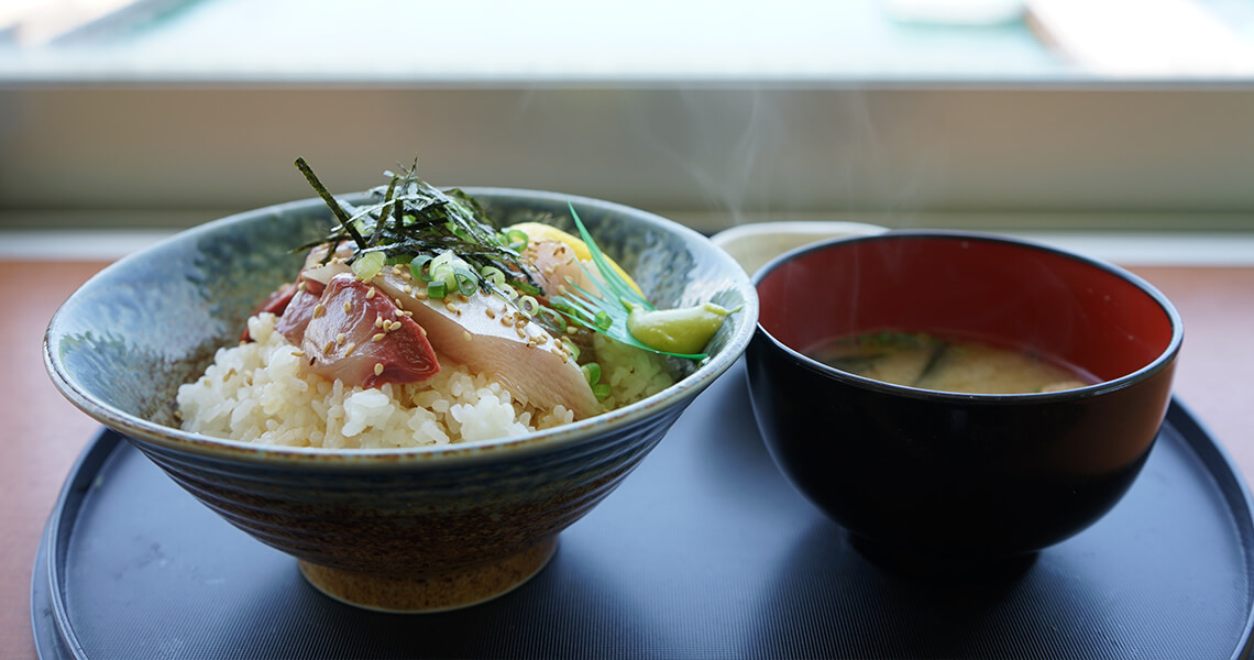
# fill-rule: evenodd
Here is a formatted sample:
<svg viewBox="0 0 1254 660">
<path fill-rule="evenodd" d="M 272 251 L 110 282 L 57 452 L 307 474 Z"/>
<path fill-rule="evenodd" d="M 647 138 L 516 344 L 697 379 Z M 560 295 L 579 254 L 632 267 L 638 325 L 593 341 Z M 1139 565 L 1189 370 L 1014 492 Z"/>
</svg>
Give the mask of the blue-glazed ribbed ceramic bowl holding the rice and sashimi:
<svg viewBox="0 0 1254 660">
<path fill-rule="evenodd" d="M 196 227 L 105 269 L 53 317 L 48 371 L 71 403 L 232 524 L 297 557 L 334 597 L 423 611 L 499 595 L 543 567 L 557 535 L 613 491 L 736 361 L 752 336 L 757 297 L 730 256 L 651 213 L 557 193 L 466 192 L 503 226 L 568 227 L 559 218 L 573 203 L 602 248 L 661 306 L 714 300 L 739 311 L 715 336 L 710 359 L 667 390 L 529 435 L 322 450 L 179 430 L 178 386 L 198 378 L 266 294 L 295 276 L 303 257 L 291 248 L 330 227 L 325 203 L 307 200 Z"/>
</svg>

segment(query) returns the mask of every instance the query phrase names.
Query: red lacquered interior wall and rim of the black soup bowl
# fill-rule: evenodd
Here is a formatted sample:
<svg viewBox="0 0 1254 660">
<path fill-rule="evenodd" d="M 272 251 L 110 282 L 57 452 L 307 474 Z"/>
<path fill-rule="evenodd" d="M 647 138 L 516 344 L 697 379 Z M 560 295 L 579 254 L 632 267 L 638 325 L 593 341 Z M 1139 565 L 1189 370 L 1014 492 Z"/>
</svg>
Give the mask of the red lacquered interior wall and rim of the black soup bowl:
<svg viewBox="0 0 1254 660">
<path fill-rule="evenodd" d="M 754 277 L 757 329 L 835 378 L 929 395 L 1068 397 L 1146 378 L 1179 351 L 1171 302 L 1117 266 L 1028 241 L 951 231 L 836 238 L 776 257 Z M 835 336 L 898 330 L 966 335 L 1051 355 L 1101 383 L 1036 394 L 949 394 L 824 365 L 806 350 Z"/>
</svg>

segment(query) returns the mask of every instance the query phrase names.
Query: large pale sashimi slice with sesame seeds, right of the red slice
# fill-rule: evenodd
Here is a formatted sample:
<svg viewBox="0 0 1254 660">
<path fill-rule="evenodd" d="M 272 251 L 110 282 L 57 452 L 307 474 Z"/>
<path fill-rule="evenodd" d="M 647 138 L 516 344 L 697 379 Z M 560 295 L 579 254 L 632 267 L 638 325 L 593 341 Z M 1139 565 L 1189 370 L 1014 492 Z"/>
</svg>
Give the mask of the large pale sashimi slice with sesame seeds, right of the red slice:
<svg viewBox="0 0 1254 660">
<path fill-rule="evenodd" d="M 384 269 L 371 282 L 414 314 L 441 355 L 472 371 L 492 374 L 527 404 L 563 405 L 576 419 L 601 413 L 587 376 L 566 346 L 513 305 L 482 291 L 433 300 L 425 282 L 405 275 Z"/>
</svg>

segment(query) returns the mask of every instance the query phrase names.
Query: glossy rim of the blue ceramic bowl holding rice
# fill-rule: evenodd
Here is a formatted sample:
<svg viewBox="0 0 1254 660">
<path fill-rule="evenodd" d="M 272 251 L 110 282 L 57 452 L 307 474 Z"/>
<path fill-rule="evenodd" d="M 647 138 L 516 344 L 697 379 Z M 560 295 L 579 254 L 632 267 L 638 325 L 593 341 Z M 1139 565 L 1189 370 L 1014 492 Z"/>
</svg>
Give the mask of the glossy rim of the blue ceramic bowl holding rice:
<svg viewBox="0 0 1254 660">
<path fill-rule="evenodd" d="M 749 346 L 757 325 L 757 290 L 752 286 L 749 276 L 740 265 L 726 252 L 716 247 L 710 240 L 697 231 L 667 220 L 658 215 L 640 208 L 619 205 L 616 202 L 596 200 L 577 194 L 566 194 L 549 191 L 534 191 L 525 188 L 503 187 L 463 187 L 468 194 L 495 198 L 530 198 L 538 202 L 561 203 L 571 202 L 576 206 L 593 207 L 599 211 L 632 216 L 647 225 L 661 228 L 665 232 L 678 235 L 687 245 L 707 246 L 705 258 L 714 260 L 719 265 L 719 272 L 726 272 L 732 281 L 731 290 L 737 291 L 744 302 L 736 312 L 740 320 L 735 331 L 727 336 L 722 349 L 700 364 L 691 374 L 680 379 L 665 390 L 653 394 L 643 400 L 602 413 L 599 415 L 573 422 L 553 429 L 544 429 L 525 435 L 512 435 L 492 440 L 477 440 L 468 443 L 395 448 L 395 449 L 320 449 L 302 447 L 275 447 L 245 443 L 214 438 L 198 433 L 189 433 L 173 427 L 158 424 L 124 410 L 112 407 L 82 388 L 68 373 L 63 361 L 58 358 L 59 327 L 65 322 L 65 315 L 70 314 L 74 304 L 85 297 L 87 292 L 108 277 L 123 272 L 132 263 L 148 258 L 152 253 L 169 248 L 184 241 L 196 241 L 221 227 L 232 223 L 255 221 L 257 217 L 273 213 L 291 213 L 307 208 L 325 207 L 325 202 L 317 197 L 296 200 L 266 207 L 253 208 L 222 217 L 214 221 L 191 227 L 167 237 L 138 252 L 128 255 L 117 262 L 107 266 L 99 274 L 89 279 L 79 290 L 61 305 L 53 315 L 48 330 L 44 334 L 44 364 L 54 385 L 74 405 L 88 415 L 95 418 L 105 427 L 109 427 L 133 442 L 150 443 L 174 452 L 189 452 L 207 458 L 216 458 L 228 462 L 252 462 L 267 466 L 310 467 L 325 466 L 334 468 L 362 467 L 362 468 L 413 468 L 424 466 L 430 468 L 456 467 L 478 462 L 492 462 L 499 459 L 519 458 L 523 454 L 545 453 L 562 448 L 571 448 L 584 442 L 596 442 L 616 432 L 628 429 L 633 425 L 647 422 L 650 418 L 661 417 L 668 409 L 677 405 L 687 405 L 702 390 L 705 390 L 719 376 L 727 371 L 732 364 Z M 356 192 L 340 194 L 337 197 L 354 201 L 367 194 Z"/>
</svg>

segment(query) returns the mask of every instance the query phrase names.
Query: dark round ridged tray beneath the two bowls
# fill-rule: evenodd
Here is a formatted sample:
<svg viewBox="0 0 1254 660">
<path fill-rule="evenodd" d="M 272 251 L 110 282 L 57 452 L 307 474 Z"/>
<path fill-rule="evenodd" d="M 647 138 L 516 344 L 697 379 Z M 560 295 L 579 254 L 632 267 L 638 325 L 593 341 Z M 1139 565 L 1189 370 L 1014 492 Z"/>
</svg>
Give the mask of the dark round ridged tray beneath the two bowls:
<svg viewBox="0 0 1254 660">
<path fill-rule="evenodd" d="M 884 570 L 784 481 L 744 368 L 520 588 L 433 615 L 332 601 L 103 432 L 35 565 L 40 657 L 1244 657 L 1254 519 L 1179 403 L 1127 497 L 1008 573 Z"/>
</svg>

